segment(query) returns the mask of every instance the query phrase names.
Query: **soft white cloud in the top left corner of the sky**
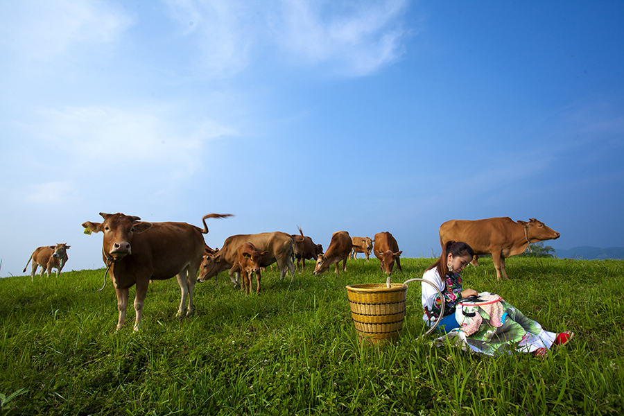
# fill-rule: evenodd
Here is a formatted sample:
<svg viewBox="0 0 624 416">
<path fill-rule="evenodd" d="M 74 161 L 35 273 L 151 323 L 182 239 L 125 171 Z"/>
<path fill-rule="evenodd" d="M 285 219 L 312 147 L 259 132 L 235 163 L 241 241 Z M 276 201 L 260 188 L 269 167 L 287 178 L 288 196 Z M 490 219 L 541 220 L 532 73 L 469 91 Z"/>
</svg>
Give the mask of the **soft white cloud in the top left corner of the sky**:
<svg viewBox="0 0 624 416">
<path fill-rule="evenodd" d="M 74 46 L 114 42 L 131 23 L 119 8 L 99 0 L 2 1 L 0 45 L 45 61 Z"/>
</svg>

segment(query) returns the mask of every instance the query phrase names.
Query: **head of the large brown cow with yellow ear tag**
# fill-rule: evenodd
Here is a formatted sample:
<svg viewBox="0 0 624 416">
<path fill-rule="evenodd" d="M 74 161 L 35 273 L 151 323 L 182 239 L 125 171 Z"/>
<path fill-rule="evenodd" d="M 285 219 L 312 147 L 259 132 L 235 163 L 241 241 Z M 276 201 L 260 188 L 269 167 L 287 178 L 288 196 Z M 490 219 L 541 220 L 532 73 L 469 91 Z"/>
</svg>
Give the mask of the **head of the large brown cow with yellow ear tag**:
<svg viewBox="0 0 624 416">
<path fill-rule="evenodd" d="M 83 223 L 85 232 L 104 233 L 103 250 L 107 257 L 115 260 L 123 259 L 125 256 L 132 254 L 132 236 L 144 232 L 152 226 L 152 223 L 146 221 L 139 222 L 141 218 L 137 216 L 128 216 L 121 213 L 106 214 L 101 212 L 104 218 L 103 223 L 92 223 L 87 221 Z"/>
</svg>

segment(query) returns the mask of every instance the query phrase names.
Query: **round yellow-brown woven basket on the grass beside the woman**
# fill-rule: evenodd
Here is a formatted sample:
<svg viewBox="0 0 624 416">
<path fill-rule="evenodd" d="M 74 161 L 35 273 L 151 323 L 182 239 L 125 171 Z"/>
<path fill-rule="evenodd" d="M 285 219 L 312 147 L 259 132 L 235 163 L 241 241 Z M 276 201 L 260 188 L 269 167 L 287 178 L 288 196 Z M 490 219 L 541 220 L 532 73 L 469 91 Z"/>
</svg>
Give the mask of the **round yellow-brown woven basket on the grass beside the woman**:
<svg viewBox="0 0 624 416">
<path fill-rule="evenodd" d="M 395 340 L 403 329 L 407 286 L 353 284 L 347 286 L 351 316 L 360 339 L 379 343 Z"/>
</svg>

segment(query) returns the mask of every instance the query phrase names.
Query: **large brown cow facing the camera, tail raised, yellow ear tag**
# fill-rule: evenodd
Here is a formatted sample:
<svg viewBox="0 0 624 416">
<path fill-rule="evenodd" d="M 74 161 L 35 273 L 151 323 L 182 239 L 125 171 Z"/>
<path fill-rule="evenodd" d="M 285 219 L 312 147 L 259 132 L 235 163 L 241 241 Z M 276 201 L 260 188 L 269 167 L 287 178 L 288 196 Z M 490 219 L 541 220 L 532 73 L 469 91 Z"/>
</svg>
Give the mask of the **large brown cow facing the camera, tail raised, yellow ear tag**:
<svg viewBox="0 0 624 416">
<path fill-rule="evenodd" d="M 135 331 L 141 327 L 143 304 L 150 279 L 164 280 L 177 276 L 182 300 L 177 315 L 184 312 L 189 298 L 187 315 L 193 311 L 195 276 L 202 262 L 206 243 L 202 234 L 208 234 L 206 218 L 225 218 L 231 214 L 208 214 L 202 218 L 204 229 L 187 223 L 148 223 L 137 216 L 121 213 L 100 215 L 103 223 L 83 223 L 85 233 L 103 232 L 102 259 L 110 270 L 115 286 L 119 320 L 117 329 L 125 322 L 128 308 L 128 288 L 137 285 L 135 295 Z"/>
</svg>

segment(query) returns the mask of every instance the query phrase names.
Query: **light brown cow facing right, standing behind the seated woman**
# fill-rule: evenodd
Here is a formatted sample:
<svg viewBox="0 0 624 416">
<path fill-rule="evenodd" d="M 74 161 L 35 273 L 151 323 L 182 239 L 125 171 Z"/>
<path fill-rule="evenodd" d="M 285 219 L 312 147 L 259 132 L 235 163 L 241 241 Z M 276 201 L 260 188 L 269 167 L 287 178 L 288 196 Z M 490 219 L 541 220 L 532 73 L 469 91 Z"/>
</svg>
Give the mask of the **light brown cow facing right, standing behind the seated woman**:
<svg viewBox="0 0 624 416">
<path fill-rule="evenodd" d="M 505 258 L 522 254 L 529 243 L 555 240 L 560 233 L 546 227 L 544 223 L 530 218 L 529 222 L 514 222 L 509 217 L 487 218 L 485 220 L 450 220 L 440 225 L 440 245 L 449 240 L 463 241 L 478 254 L 492 254 L 496 279 L 501 275 L 509 279 L 505 271 Z"/>
</svg>

